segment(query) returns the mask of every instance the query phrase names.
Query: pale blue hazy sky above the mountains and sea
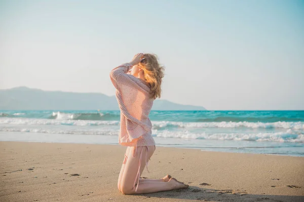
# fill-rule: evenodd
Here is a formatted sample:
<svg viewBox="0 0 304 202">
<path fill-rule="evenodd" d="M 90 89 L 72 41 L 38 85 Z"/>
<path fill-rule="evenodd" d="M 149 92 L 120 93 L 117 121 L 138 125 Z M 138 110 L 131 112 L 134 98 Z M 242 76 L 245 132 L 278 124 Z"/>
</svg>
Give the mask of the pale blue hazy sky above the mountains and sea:
<svg viewBox="0 0 304 202">
<path fill-rule="evenodd" d="M 304 110 L 304 1 L 0 0 L 0 89 L 115 95 L 137 53 L 162 99 L 208 110 Z"/>
</svg>

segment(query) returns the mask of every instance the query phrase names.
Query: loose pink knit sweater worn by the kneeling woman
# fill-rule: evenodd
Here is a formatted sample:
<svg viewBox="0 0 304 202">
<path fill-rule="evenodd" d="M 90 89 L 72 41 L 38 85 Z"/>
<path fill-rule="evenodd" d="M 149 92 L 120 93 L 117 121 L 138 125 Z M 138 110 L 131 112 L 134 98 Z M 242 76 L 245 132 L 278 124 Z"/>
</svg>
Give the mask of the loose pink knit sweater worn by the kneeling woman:
<svg viewBox="0 0 304 202">
<path fill-rule="evenodd" d="M 148 115 L 154 98 L 147 85 L 139 78 L 127 74 L 130 68 L 132 65 L 125 63 L 110 72 L 121 110 L 119 143 L 124 146 L 152 146 L 155 141 Z"/>
</svg>

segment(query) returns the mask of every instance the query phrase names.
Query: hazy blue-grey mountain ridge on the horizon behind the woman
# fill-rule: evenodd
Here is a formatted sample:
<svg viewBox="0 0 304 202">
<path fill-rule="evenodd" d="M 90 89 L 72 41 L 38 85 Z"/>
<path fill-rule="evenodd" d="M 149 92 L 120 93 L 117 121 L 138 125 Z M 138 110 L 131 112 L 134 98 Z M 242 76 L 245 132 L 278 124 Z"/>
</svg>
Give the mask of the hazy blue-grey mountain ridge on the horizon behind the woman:
<svg viewBox="0 0 304 202">
<path fill-rule="evenodd" d="M 102 93 L 44 91 L 28 87 L 0 90 L 0 110 L 119 110 L 115 96 Z M 156 99 L 152 110 L 206 110 Z"/>
</svg>

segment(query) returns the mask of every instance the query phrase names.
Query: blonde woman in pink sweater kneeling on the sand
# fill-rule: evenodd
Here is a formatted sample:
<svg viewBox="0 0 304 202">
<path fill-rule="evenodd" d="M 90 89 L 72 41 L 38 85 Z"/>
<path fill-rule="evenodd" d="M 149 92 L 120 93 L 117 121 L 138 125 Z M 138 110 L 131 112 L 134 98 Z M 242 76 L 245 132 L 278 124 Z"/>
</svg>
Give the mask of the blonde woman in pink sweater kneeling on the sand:
<svg viewBox="0 0 304 202">
<path fill-rule="evenodd" d="M 148 115 L 153 101 L 161 96 L 163 71 L 156 55 L 140 53 L 130 63 L 122 64 L 110 73 L 121 110 L 119 143 L 127 146 L 118 179 L 118 189 L 124 194 L 188 187 L 170 175 L 161 179 L 139 179 L 155 151 Z"/>
</svg>

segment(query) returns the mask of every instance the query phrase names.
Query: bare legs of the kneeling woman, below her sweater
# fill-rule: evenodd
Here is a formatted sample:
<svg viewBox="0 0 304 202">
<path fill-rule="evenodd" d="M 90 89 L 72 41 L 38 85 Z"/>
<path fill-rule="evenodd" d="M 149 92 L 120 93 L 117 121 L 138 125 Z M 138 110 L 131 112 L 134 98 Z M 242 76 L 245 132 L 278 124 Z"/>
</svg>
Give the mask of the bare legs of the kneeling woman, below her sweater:
<svg viewBox="0 0 304 202">
<path fill-rule="evenodd" d="M 158 191 L 168 191 L 177 188 L 187 188 L 188 185 L 179 183 L 176 179 L 171 178 L 168 182 L 159 182 L 159 181 L 143 181 L 138 183 L 137 191 L 134 189 L 134 181 L 137 180 L 137 171 L 140 165 L 140 174 L 142 173 L 145 162 L 146 162 L 146 155 L 147 159 L 149 159 L 155 150 L 154 146 L 149 146 L 148 151 L 145 147 L 142 148 L 142 155 L 141 155 L 141 162 L 140 160 L 140 151 L 138 149 L 136 157 L 133 157 L 132 149 L 128 150 L 128 160 L 126 162 L 124 172 L 121 176 L 121 187 L 120 190 L 124 194 L 142 194 L 142 193 L 153 193 Z M 151 180 L 151 179 L 150 179 Z M 137 181 L 136 181 L 137 183 Z M 137 185 L 136 185 L 137 186 Z M 136 187 L 135 186 L 135 187 Z"/>
</svg>

